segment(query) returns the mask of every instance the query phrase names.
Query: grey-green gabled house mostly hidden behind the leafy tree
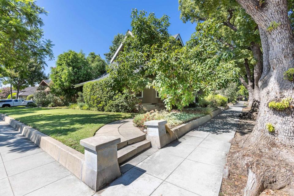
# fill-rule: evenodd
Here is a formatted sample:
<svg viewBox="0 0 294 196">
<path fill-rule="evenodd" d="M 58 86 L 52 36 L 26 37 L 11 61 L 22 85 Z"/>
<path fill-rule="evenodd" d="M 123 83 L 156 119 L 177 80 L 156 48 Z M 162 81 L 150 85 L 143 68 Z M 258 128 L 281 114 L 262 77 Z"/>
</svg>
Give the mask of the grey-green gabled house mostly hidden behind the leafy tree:
<svg viewBox="0 0 294 196">
<path fill-rule="evenodd" d="M 132 32 L 130 30 L 128 30 L 128 32 L 130 35 L 132 35 Z M 180 36 L 180 34 L 176 34 L 176 35 L 173 35 L 173 37 L 176 39 L 176 40 L 179 40 L 182 44 L 182 46 L 184 46 L 183 44 L 183 41 L 182 41 L 182 38 Z M 116 59 L 116 57 L 119 55 L 119 52 L 123 50 L 123 42 L 119 45 L 118 49 L 115 51 L 115 54 L 113 55 L 113 57 L 111 58 L 110 60 L 110 63 L 113 63 L 114 60 Z M 104 73 L 102 74 L 100 77 L 96 78 L 95 80 L 91 80 L 91 81 L 86 81 L 86 82 L 82 82 L 80 84 L 76 84 L 74 85 L 74 88 L 77 88 L 79 86 L 83 86 L 84 84 L 88 83 L 88 82 L 92 82 L 92 81 L 99 81 L 101 79 L 104 79 L 106 77 L 108 77 L 109 74 L 107 73 Z M 153 80 L 154 77 L 150 76 L 149 80 Z M 158 92 L 156 92 L 155 89 L 143 89 L 141 92 L 137 93 L 136 96 L 142 100 L 142 104 L 144 105 L 148 105 L 148 104 L 163 104 L 163 101 L 159 98 L 158 96 Z"/>
</svg>

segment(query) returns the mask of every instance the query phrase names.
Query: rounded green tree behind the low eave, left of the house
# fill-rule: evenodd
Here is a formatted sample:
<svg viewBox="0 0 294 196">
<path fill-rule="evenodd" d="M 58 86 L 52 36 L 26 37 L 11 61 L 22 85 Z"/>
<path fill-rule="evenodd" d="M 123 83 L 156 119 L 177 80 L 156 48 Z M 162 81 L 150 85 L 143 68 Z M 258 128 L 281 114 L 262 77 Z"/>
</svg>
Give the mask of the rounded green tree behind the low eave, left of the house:
<svg viewBox="0 0 294 196">
<path fill-rule="evenodd" d="M 51 92 L 70 100 L 81 91 L 79 88 L 75 89 L 74 84 L 92 79 L 92 67 L 82 51 L 77 53 L 69 50 L 58 55 L 56 66 L 51 67 L 50 78 Z"/>
</svg>

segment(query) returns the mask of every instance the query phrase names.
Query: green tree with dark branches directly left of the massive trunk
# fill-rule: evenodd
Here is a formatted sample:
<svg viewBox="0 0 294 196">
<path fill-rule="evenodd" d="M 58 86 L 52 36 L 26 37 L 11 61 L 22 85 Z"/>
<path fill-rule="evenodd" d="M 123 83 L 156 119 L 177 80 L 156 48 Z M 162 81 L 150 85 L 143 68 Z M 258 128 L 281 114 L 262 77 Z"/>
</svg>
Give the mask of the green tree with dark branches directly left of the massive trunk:
<svg viewBox="0 0 294 196">
<path fill-rule="evenodd" d="M 241 68 L 239 79 L 249 91 L 250 113 L 258 111 L 259 85 L 262 75 L 262 51 L 258 25 L 233 0 L 179 0 L 180 17 L 184 22 L 204 21 L 205 35 L 231 50 L 236 66 Z M 240 39 L 242 38 L 242 39 Z"/>
</svg>

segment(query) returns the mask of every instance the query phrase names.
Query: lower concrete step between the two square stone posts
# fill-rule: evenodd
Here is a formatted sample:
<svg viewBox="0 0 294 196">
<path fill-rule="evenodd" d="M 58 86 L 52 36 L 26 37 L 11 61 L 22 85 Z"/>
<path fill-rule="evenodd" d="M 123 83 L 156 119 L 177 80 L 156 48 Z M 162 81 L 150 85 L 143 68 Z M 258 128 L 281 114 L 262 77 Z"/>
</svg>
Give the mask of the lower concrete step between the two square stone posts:
<svg viewBox="0 0 294 196">
<path fill-rule="evenodd" d="M 142 152 L 143 150 L 149 148 L 151 146 L 151 142 L 144 140 L 134 144 L 130 144 L 122 149 L 117 151 L 117 160 L 120 163 L 130 159 L 131 157 L 135 156 L 136 154 Z"/>
</svg>

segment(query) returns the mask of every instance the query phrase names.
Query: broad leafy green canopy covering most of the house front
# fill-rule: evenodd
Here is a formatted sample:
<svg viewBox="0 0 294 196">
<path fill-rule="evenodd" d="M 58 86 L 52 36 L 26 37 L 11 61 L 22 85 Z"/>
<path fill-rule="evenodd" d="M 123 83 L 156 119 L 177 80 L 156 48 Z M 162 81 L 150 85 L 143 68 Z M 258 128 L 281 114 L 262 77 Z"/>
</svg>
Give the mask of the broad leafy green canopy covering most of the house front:
<svg viewBox="0 0 294 196">
<path fill-rule="evenodd" d="M 198 39 L 195 34 L 182 47 L 169 33 L 168 16 L 132 12 L 132 33 L 124 40 L 124 50 L 115 63 L 107 66 L 113 82 L 131 92 L 154 88 L 167 109 L 179 109 L 194 100 L 195 93 L 207 94 L 235 80 L 239 69 L 231 61 L 231 52 L 219 52 L 220 45 L 211 36 Z M 204 36 L 203 36 L 204 37 Z M 155 77 L 153 81 L 149 81 Z"/>
</svg>

